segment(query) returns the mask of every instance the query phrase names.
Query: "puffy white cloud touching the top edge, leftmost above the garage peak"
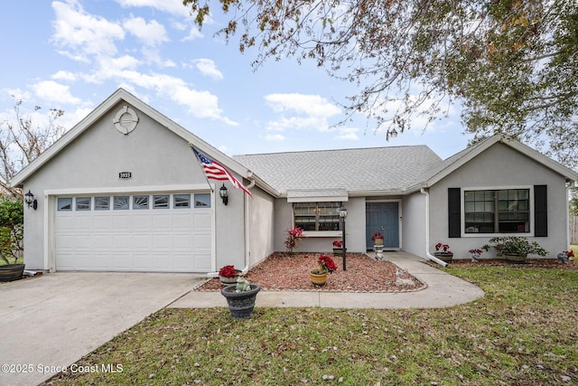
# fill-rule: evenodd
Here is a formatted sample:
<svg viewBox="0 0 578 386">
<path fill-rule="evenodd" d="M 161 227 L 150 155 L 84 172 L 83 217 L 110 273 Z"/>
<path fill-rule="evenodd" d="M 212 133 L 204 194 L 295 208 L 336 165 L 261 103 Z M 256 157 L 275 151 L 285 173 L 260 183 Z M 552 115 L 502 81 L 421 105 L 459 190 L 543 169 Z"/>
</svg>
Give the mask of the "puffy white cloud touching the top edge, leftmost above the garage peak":
<svg viewBox="0 0 578 386">
<path fill-rule="evenodd" d="M 52 39 L 64 49 L 61 53 L 76 61 L 89 61 L 89 55 L 117 53 L 115 41 L 125 38 L 125 31 L 120 25 L 87 14 L 75 1 L 55 1 L 52 8 L 56 14 Z"/>
</svg>

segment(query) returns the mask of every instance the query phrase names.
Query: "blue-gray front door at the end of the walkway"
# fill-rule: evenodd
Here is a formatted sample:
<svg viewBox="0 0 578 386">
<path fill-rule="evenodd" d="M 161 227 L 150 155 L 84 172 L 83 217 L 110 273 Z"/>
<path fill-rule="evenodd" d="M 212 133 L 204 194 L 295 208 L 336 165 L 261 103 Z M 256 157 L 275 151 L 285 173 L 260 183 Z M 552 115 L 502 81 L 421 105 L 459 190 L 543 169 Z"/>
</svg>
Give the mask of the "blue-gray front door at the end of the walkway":
<svg viewBox="0 0 578 386">
<path fill-rule="evenodd" d="M 399 248 L 399 205 L 398 202 L 366 202 L 365 234 L 368 250 L 375 244 L 371 236 L 378 231 L 383 237 L 385 249 Z"/>
</svg>

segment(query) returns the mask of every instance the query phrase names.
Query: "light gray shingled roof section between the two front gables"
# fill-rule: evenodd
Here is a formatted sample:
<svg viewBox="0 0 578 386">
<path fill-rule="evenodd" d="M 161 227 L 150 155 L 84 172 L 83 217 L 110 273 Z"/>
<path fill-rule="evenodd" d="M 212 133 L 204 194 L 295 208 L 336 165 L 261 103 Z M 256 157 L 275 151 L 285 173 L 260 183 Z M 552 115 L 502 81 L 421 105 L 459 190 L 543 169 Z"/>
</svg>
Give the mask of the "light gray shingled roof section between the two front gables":
<svg viewBox="0 0 578 386">
<path fill-rule="evenodd" d="M 235 155 L 233 159 L 282 196 L 300 191 L 325 195 L 331 190 L 350 196 L 405 193 L 443 162 L 428 146 Z"/>
</svg>

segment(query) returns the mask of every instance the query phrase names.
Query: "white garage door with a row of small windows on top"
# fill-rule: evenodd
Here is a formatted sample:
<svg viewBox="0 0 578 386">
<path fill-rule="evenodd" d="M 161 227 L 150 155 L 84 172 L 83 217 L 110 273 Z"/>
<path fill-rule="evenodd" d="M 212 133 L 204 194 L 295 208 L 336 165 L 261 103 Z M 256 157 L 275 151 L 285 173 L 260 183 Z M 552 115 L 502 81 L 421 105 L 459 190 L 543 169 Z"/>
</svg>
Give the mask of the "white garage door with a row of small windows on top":
<svg viewBox="0 0 578 386">
<path fill-rule="evenodd" d="M 56 198 L 57 270 L 208 272 L 208 193 Z"/>
</svg>

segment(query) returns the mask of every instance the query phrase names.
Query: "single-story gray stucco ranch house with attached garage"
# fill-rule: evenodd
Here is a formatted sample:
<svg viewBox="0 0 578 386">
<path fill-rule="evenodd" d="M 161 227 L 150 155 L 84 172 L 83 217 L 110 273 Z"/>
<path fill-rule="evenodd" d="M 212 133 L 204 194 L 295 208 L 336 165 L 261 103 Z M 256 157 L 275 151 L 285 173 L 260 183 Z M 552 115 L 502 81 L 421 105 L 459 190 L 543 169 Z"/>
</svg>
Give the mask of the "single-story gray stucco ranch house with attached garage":
<svg viewBox="0 0 578 386">
<path fill-rule="evenodd" d="M 190 143 L 252 197 L 208 180 Z M 12 183 L 35 200 L 24 211 L 27 268 L 210 273 L 284 250 L 294 226 L 306 236 L 296 250 L 331 251 L 341 206 L 350 252 L 372 249 L 380 231 L 386 248 L 424 259 L 438 242 L 469 258 L 499 235 L 537 240 L 555 257 L 568 248 L 577 180 L 503 136 L 446 160 L 427 146 L 231 158 L 118 89 Z"/>
</svg>

